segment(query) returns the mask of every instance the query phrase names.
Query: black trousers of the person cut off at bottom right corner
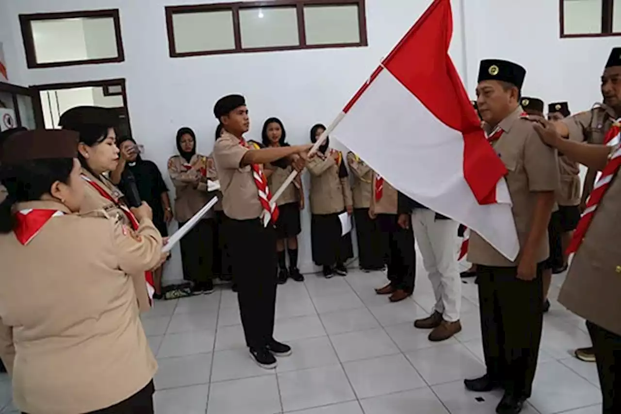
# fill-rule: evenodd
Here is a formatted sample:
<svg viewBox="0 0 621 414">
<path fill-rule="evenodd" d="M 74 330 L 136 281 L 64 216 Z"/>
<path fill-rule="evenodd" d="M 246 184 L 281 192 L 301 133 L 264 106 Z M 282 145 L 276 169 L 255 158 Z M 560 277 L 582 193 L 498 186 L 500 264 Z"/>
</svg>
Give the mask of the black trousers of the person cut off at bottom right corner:
<svg viewBox="0 0 621 414">
<path fill-rule="evenodd" d="M 602 389 L 602 413 L 621 413 L 621 336 L 592 322 L 587 328 L 593 341 L 599 385 Z"/>
</svg>

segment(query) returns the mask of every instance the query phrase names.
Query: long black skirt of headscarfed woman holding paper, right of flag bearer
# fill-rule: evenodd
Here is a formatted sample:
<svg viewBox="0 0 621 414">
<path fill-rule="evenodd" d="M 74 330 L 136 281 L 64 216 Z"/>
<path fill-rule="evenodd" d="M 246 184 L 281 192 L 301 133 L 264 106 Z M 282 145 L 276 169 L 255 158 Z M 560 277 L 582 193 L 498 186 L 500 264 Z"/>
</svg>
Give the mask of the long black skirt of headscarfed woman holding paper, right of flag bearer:
<svg viewBox="0 0 621 414">
<path fill-rule="evenodd" d="M 333 266 L 345 263 L 353 257 L 351 232 L 341 236 L 341 222 L 338 214 L 312 214 L 311 247 L 312 260 L 319 266 Z"/>
</svg>

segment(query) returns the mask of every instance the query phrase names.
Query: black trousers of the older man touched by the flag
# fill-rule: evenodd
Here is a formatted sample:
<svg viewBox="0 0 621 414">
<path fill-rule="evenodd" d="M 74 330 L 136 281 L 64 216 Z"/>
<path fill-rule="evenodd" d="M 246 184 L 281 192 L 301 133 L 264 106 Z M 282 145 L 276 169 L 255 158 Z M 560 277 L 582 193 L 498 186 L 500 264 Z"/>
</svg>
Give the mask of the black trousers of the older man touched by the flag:
<svg viewBox="0 0 621 414">
<path fill-rule="evenodd" d="M 477 265 L 476 271 L 487 375 L 505 392 L 528 398 L 542 338 L 543 264 L 531 281 L 517 278 L 517 267 Z"/>
</svg>

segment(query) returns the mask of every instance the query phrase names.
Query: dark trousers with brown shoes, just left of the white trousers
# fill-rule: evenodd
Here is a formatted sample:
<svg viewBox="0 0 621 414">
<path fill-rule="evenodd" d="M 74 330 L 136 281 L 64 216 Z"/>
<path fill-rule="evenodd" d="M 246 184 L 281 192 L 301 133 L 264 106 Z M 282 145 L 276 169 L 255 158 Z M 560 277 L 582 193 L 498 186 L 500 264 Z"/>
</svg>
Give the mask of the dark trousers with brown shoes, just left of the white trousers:
<svg viewBox="0 0 621 414">
<path fill-rule="evenodd" d="M 416 273 L 414 232 L 401 228 L 398 220 L 397 214 L 378 214 L 376 218 L 388 280 L 393 288 L 412 293 Z"/>
</svg>

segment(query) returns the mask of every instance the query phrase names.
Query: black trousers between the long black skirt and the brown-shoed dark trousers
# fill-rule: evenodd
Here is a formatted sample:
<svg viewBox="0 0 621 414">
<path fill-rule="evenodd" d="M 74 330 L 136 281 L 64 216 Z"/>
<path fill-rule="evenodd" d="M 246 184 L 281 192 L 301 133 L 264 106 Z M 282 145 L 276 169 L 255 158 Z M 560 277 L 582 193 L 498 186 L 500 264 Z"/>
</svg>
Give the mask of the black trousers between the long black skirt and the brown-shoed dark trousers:
<svg viewBox="0 0 621 414">
<path fill-rule="evenodd" d="M 353 211 L 358 241 L 358 262 L 361 269 L 376 270 L 384 267 L 384 257 L 377 221 L 371 220 L 368 208 Z"/>
</svg>

